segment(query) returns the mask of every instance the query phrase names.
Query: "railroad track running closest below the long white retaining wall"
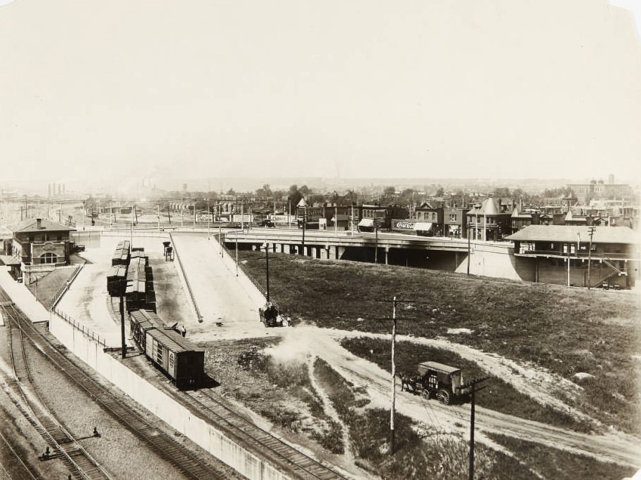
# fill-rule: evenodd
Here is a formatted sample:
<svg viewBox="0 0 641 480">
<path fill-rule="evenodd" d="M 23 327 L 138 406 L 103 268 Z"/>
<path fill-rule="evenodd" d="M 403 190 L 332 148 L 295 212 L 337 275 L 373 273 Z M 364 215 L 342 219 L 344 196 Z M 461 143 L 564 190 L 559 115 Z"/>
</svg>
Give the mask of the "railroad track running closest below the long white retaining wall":
<svg viewBox="0 0 641 480">
<path fill-rule="evenodd" d="M 10 301 L 10 299 L 7 298 L 6 293 L 0 288 L 0 302 L 8 301 Z M 83 389 L 91 398 L 100 404 L 100 406 L 109 412 L 115 420 L 121 423 L 121 425 L 124 425 L 129 431 L 138 436 L 140 440 L 150 446 L 152 451 L 160 458 L 169 462 L 178 472 L 185 475 L 185 478 L 207 480 L 229 478 L 229 473 L 226 472 L 225 469 L 206 465 L 204 462 L 201 462 L 201 460 L 192 452 L 188 451 L 187 448 L 178 444 L 178 442 L 163 432 L 160 432 L 149 422 L 141 418 L 136 411 L 133 411 L 133 409 L 113 396 L 108 389 L 100 385 L 97 380 L 91 378 L 91 374 L 86 373 L 58 352 L 58 350 L 51 346 L 46 338 L 34 328 L 32 322 L 29 321 L 19 309 L 15 308 L 15 306 L 2 306 L 1 308 L 4 309 L 6 316 L 11 318 L 11 321 L 14 321 L 14 323 L 20 327 L 22 334 L 25 335 L 30 342 L 33 342 L 34 345 L 37 345 L 41 354 L 46 356 L 46 358 L 51 361 L 51 364 L 65 373 L 75 385 Z M 20 373 L 20 375 L 25 375 L 25 372 Z M 32 418 L 32 420 L 34 419 Z M 36 423 L 41 425 L 40 422 Z M 44 425 L 41 425 L 41 427 L 46 430 Z M 77 452 L 70 453 L 70 457 L 72 457 L 74 461 L 77 460 L 78 456 L 79 454 Z M 79 460 L 79 462 L 82 462 L 82 460 Z M 93 479 L 97 477 L 92 476 L 86 478 Z"/>
</svg>

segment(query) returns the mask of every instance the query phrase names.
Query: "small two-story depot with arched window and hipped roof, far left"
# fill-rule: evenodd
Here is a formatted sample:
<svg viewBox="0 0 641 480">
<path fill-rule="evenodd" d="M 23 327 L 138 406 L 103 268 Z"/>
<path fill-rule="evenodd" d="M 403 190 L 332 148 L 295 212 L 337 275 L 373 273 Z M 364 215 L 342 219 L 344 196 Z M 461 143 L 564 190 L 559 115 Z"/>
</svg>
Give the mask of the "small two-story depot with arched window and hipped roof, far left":
<svg viewBox="0 0 641 480">
<path fill-rule="evenodd" d="M 26 284 L 31 283 L 35 276 L 69 263 L 72 249 L 70 232 L 74 232 L 74 228 L 41 218 L 29 218 L 8 229 L 13 233 L 11 255 L 20 258 L 19 273 Z"/>
</svg>

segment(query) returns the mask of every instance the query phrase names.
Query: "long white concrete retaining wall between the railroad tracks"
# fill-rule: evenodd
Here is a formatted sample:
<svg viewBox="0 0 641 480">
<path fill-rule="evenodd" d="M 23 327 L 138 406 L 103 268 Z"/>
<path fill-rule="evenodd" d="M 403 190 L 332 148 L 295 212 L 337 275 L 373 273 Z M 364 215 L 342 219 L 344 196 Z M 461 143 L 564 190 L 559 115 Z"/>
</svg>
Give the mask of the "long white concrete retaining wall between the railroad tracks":
<svg viewBox="0 0 641 480">
<path fill-rule="evenodd" d="M 49 329 L 79 359 L 103 375 L 123 392 L 164 420 L 211 455 L 219 458 L 248 479 L 284 480 L 289 476 L 258 458 L 197 415 L 127 368 L 102 345 L 86 338 L 56 314 L 51 314 Z"/>
</svg>

